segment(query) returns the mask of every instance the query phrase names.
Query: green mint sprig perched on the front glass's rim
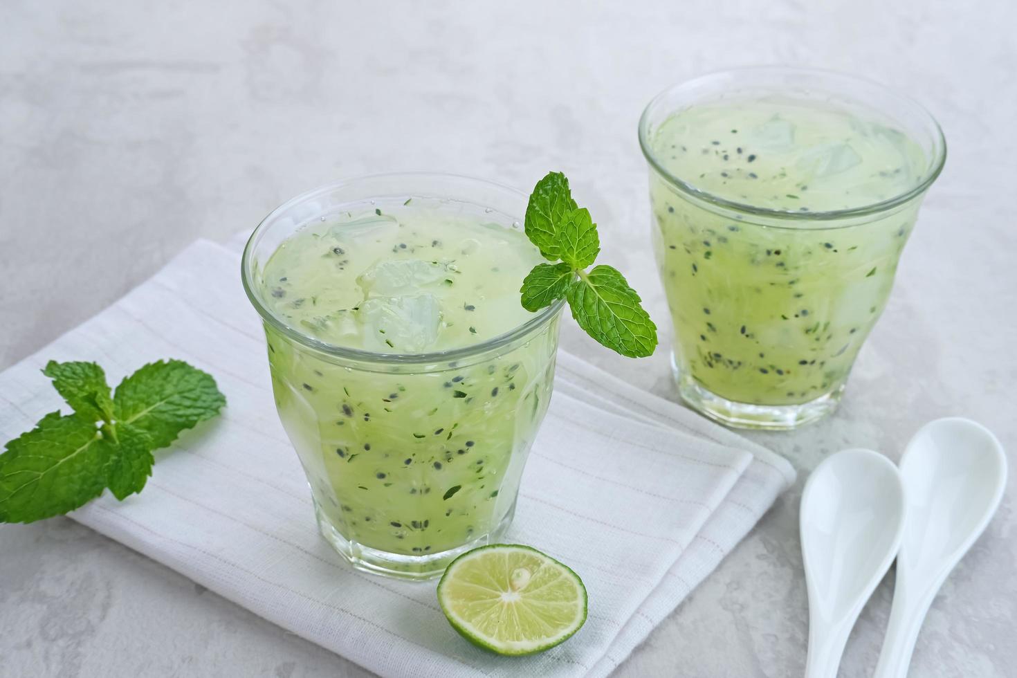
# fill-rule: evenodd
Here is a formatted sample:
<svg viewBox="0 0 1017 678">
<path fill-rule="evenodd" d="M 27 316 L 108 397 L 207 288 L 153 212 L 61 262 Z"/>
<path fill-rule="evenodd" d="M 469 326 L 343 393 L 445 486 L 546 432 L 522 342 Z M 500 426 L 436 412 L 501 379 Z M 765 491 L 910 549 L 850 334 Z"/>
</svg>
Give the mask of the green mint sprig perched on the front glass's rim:
<svg viewBox="0 0 1017 678">
<path fill-rule="evenodd" d="M 544 258 L 523 281 L 523 308 L 537 311 L 566 299 L 579 326 L 603 346 L 629 358 L 645 358 L 657 347 L 657 325 L 639 295 L 616 268 L 586 270 L 600 253 L 597 225 L 572 197 L 569 180 L 551 172 L 537 182 L 526 207 L 526 236 Z"/>
</svg>

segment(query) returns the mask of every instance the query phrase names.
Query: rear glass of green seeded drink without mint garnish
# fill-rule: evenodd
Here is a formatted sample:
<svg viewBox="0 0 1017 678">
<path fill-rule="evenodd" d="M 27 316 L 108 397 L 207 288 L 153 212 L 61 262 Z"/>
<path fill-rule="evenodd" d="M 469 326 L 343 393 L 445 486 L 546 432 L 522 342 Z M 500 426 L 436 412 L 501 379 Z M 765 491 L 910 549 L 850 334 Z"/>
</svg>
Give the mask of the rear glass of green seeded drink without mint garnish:
<svg viewBox="0 0 1017 678">
<path fill-rule="evenodd" d="M 919 105 L 847 75 L 747 68 L 640 121 L 678 390 L 724 424 L 832 412 L 946 159 Z"/>
</svg>

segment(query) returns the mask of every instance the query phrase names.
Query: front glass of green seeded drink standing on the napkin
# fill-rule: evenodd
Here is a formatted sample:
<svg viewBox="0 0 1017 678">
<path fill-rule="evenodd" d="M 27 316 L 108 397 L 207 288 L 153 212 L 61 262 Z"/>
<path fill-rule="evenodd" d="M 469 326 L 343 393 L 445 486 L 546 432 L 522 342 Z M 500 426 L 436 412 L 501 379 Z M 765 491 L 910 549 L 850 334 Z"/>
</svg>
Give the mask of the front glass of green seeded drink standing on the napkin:
<svg viewBox="0 0 1017 678">
<path fill-rule="evenodd" d="M 357 568 L 435 576 L 512 520 L 562 307 L 520 304 L 542 260 L 526 204 L 466 177 L 364 177 L 286 202 L 247 244 L 280 418 Z"/>
</svg>

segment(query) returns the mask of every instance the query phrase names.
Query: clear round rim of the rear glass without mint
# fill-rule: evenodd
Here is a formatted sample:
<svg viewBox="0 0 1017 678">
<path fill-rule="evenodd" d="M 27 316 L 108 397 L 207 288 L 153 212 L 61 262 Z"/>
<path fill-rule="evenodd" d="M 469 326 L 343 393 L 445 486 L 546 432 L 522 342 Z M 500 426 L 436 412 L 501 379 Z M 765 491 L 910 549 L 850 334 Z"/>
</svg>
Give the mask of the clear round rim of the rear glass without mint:
<svg viewBox="0 0 1017 678">
<path fill-rule="evenodd" d="M 875 87 L 876 89 L 884 93 L 885 95 L 896 99 L 898 102 L 906 104 L 911 107 L 916 112 L 920 113 L 928 122 L 932 123 L 932 128 L 935 130 L 933 138 L 933 157 L 930 158 L 929 169 L 922 175 L 921 179 L 911 188 L 906 191 L 902 191 L 897 195 L 894 195 L 885 200 L 880 200 L 878 202 L 872 202 L 869 204 L 859 205 L 857 207 L 850 207 L 847 209 L 831 209 L 823 211 L 789 211 L 784 209 L 773 209 L 770 207 L 759 207 L 756 205 L 747 204 L 744 202 L 738 202 L 737 200 L 729 200 L 727 198 L 720 197 L 711 193 L 710 191 L 704 191 L 697 188 L 693 184 L 680 179 L 671 172 L 664 169 L 663 165 L 657 161 L 655 153 L 650 145 L 650 139 L 648 138 L 650 130 L 650 114 L 651 109 L 655 105 L 659 104 L 664 97 L 677 91 L 685 87 L 693 87 L 697 84 L 702 84 L 704 82 L 714 80 L 721 76 L 726 75 L 751 75 L 753 73 L 759 74 L 797 74 L 805 75 L 818 78 L 829 78 L 829 79 L 839 79 L 842 81 L 851 81 L 856 84 L 861 84 L 868 87 Z M 853 97 L 848 98 L 850 101 L 858 101 Z M 863 102 L 859 102 L 863 103 Z M 876 108 L 876 107 L 870 107 Z M 877 109 L 878 110 L 878 109 Z M 855 217 L 868 217 L 872 214 L 877 214 L 880 212 L 887 211 L 894 207 L 900 206 L 917 195 L 920 195 L 925 190 L 932 186 L 933 182 L 936 181 L 937 177 L 943 171 L 943 166 L 946 164 L 947 159 L 947 142 L 946 137 L 943 134 L 943 128 L 940 127 L 940 123 L 936 120 L 932 113 L 919 104 L 916 100 L 908 97 L 907 95 L 902 95 L 894 91 L 889 86 L 871 80 L 866 77 L 861 77 L 858 75 L 852 75 L 849 73 L 842 73 L 835 70 L 827 70 L 823 68 L 799 68 L 795 66 L 743 66 L 740 68 L 729 68 L 724 70 L 711 71 L 709 73 L 704 73 L 689 80 L 683 80 L 676 84 L 672 84 L 660 93 L 658 93 L 643 109 L 643 114 L 640 116 L 639 120 L 639 143 L 640 148 L 643 150 L 643 157 L 646 159 L 650 167 L 668 184 L 677 188 L 682 193 L 690 195 L 696 199 L 702 200 L 708 204 L 720 207 L 723 209 L 728 209 L 732 211 L 737 211 L 741 213 L 752 214 L 755 217 L 763 217 L 767 219 L 792 222 L 797 223 L 798 226 L 795 227 L 783 227 L 783 228 L 798 228 L 803 222 L 829 222 L 834 220 L 851 219 Z M 781 228 L 781 227 L 776 227 Z M 828 227 L 823 227 L 828 228 Z"/>
</svg>

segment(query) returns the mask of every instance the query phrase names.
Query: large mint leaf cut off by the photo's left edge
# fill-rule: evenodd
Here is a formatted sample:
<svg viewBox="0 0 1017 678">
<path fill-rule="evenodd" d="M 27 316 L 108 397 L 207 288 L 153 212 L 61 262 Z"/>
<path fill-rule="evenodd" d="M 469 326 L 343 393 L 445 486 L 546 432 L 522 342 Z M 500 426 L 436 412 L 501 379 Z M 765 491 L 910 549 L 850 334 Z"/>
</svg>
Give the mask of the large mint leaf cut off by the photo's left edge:
<svg viewBox="0 0 1017 678">
<path fill-rule="evenodd" d="M 0 521 L 32 522 L 98 497 L 111 452 L 89 417 L 46 415 L 0 454 Z"/>
</svg>

